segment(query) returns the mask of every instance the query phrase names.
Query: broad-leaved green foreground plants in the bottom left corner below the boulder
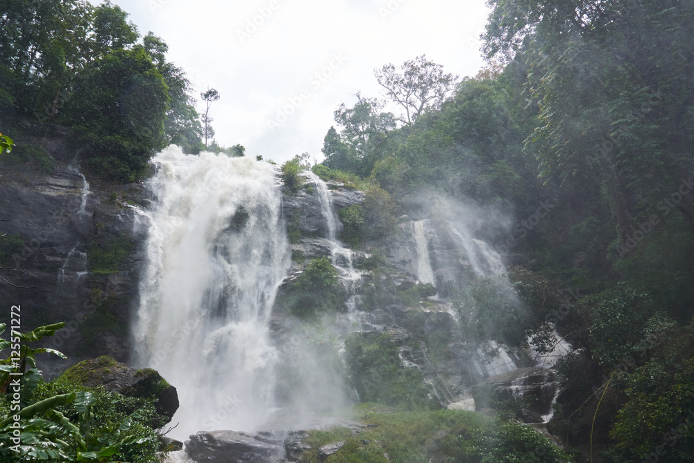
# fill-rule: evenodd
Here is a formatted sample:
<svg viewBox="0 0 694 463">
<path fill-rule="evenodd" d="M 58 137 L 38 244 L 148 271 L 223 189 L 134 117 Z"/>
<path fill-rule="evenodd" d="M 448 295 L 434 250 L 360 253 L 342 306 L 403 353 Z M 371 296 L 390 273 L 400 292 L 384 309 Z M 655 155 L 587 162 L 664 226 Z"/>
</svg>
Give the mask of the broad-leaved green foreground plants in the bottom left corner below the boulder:
<svg viewBox="0 0 694 463">
<path fill-rule="evenodd" d="M 157 412 L 154 396 L 127 397 L 85 387 L 69 374 L 43 380 L 35 356 L 65 355 L 30 343 L 64 325 L 28 333 L 12 330 L 10 340 L 0 339 L 0 350 L 8 353 L 0 360 L 0 462 L 159 462 L 162 441 L 155 429 L 168 418 Z M 5 328 L 0 325 L 0 334 Z"/>
</svg>

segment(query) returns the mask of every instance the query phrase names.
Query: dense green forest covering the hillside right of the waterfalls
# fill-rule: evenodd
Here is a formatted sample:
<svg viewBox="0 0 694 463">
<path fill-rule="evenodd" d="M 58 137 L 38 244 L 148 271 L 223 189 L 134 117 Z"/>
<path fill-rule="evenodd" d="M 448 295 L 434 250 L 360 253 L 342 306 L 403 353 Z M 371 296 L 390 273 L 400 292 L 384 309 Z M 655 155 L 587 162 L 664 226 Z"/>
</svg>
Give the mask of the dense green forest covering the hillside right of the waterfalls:
<svg viewBox="0 0 694 463">
<path fill-rule="evenodd" d="M 560 365 L 557 434 L 603 461 L 663 445 L 691 461 L 691 426 L 677 427 L 694 409 L 694 3 L 489 4 L 486 69 L 452 90 L 424 57 L 384 67 L 379 81 L 440 101 L 411 117 L 357 94 L 335 111 L 323 165 L 378 185 L 394 214 L 434 193 L 512 217 L 490 235 L 518 268 L 457 296 L 467 335 L 548 342 L 553 323 L 581 348 Z M 341 217 L 356 243 L 370 220 Z"/>
</svg>

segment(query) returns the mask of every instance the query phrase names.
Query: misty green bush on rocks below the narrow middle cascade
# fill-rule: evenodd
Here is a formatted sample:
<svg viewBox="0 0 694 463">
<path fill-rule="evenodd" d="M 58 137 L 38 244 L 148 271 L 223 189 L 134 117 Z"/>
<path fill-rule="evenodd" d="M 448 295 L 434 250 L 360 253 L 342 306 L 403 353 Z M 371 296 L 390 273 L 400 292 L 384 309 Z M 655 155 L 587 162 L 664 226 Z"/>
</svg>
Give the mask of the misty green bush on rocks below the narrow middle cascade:
<svg viewBox="0 0 694 463">
<path fill-rule="evenodd" d="M 405 368 L 398 346 L 380 333 L 350 333 L 345 339 L 350 382 L 359 401 L 378 402 L 403 410 L 428 410 L 437 405 L 419 369 Z"/>
</svg>

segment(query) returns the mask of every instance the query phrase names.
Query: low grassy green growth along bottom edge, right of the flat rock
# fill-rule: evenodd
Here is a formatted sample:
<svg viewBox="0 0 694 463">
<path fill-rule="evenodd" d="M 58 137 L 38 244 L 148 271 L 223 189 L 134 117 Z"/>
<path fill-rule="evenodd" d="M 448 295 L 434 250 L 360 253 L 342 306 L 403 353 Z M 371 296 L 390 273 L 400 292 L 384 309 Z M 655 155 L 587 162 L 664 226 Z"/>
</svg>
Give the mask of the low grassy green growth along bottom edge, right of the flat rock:
<svg viewBox="0 0 694 463">
<path fill-rule="evenodd" d="M 394 412 L 368 403 L 357 406 L 356 412 L 366 429 L 357 435 L 348 428 L 311 431 L 306 443 L 312 450 L 302 461 L 319 462 L 317 449 L 336 441 L 345 444 L 326 463 L 572 461 L 528 426 L 473 412 Z"/>
</svg>

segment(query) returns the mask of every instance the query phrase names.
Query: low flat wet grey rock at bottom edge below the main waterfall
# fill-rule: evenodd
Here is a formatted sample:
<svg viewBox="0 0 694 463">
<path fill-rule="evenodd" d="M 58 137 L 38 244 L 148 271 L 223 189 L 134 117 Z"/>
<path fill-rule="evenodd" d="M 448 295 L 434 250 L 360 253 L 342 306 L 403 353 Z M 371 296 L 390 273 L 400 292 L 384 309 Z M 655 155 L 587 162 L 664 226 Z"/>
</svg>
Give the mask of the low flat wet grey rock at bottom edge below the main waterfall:
<svg viewBox="0 0 694 463">
<path fill-rule="evenodd" d="M 234 431 L 201 431 L 185 441 L 185 452 L 198 463 L 279 462 L 285 454 L 281 439 Z"/>
</svg>

